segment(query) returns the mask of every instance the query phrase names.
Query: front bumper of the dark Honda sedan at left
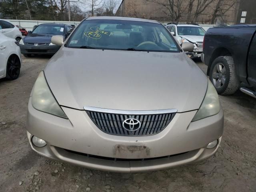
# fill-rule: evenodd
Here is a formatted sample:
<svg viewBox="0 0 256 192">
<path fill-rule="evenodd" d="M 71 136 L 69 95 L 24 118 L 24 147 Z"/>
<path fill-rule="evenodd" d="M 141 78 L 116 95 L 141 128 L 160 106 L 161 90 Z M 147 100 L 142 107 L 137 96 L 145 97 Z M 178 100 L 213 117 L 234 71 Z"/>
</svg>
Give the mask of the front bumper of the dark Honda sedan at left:
<svg viewBox="0 0 256 192">
<path fill-rule="evenodd" d="M 25 43 L 25 45 L 20 44 L 20 51 L 22 54 L 48 54 L 48 55 L 54 55 L 58 50 L 60 49 L 60 46 L 58 45 L 52 45 L 49 46 L 41 45 L 41 46 L 33 46 L 28 45 Z"/>
</svg>

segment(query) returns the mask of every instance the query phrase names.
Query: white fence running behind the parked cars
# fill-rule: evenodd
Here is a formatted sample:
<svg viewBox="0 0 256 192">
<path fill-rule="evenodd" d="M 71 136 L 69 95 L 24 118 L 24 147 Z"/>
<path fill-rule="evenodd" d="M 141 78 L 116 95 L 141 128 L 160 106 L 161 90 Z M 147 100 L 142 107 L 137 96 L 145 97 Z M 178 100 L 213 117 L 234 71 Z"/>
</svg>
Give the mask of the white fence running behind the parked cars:
<svg viewBox="0 0 256 192">
<path fill-rule="evenodd" d="M 42 23 L 65 23 L 65 24 L 74 24 L 74 25 L 78 25 L 80 22 L 78 21 L 41 21 L 41 20 L 8 20 L 9 22 L 11 22 L 14 25 L 20 25 L 24 28 L 26 28 L 27 30 L 32 30 L 33 27 L 35 25 L 39 25 Z M 212 28 L 215 25 L 207 25 L 207 24 L 202 24 L 200 25 L 202 26 L 202 28 L 204 28 L 204 30 L 208 30 L 208 28 Z"/>
</svg>

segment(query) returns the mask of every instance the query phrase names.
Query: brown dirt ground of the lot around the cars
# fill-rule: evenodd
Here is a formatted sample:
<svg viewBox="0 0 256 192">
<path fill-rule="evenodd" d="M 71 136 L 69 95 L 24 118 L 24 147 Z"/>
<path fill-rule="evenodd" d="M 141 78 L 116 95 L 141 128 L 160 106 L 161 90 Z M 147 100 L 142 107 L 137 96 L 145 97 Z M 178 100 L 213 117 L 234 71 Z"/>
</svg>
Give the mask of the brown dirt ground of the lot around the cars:
<svg viewBox="0 0 256 192">
<path fill-rule="evenodd" d="M 26 137 L 26 110 L 32 86 L 48 60 L 24 58 L 20 78 L 0 80 L 0 192 L 256 191 L 256 100 L 239 91 L 220 96 L 225 116 L 221 146 L 197 164 L 120 174 L 39 156 Z M 198 66 L 206 70 L 204 64 Z"/>
</svg>

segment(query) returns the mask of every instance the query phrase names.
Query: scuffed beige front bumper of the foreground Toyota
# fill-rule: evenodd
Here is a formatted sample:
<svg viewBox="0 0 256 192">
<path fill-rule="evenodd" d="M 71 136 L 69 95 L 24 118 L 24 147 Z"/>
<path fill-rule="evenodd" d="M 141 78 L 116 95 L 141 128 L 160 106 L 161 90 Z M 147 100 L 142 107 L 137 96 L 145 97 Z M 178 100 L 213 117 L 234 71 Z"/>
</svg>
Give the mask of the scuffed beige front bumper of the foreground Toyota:
<svg viewBox="0 0 256 192">
<path fill-rule="evenodd" d="M 196 162 L 214 154 L 223 132 L 223 112 L 191 122 L 196 111 L 177 113 L 160 133 L 150 136 L 115 136 L 102 132 L 84 110 L 62 107 L 67 119 L 28 104 L 26 128 L 33 150 L 54 160 L 114 172 L 142 172 Z M 32 136 L 47 142 L 39 148 Z M 215 148 L 208 143 L 218 139 Z"/>
</svg>

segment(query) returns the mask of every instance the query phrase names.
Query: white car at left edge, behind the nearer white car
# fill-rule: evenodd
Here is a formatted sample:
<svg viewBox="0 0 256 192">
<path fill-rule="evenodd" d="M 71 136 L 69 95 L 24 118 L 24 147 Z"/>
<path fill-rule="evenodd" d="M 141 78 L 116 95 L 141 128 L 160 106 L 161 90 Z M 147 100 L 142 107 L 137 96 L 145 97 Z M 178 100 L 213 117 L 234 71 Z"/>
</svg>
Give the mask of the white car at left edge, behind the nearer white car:
<svg viewBox="0 0 256 192">
<path fill-rule="evenodd" d="M 19 28 L 11 24 L 10 22 L 2 19 L 0 19 L 0 33 L 4 34 L 7 37 L 13 38 L 18 42 L 22 39 L 22 34 Z"/>
</svg>

